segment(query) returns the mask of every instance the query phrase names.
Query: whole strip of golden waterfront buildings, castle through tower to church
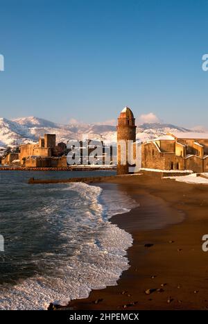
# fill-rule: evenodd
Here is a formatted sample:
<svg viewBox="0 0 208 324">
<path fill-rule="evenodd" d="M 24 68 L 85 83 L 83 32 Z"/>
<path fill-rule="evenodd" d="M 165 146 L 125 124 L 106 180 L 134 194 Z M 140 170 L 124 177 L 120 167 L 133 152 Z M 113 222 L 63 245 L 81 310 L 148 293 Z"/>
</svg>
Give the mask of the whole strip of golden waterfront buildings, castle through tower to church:
<svg viewBox="0 0 208 324">
<path fill-rule="evenodd" d="M 67 170 L 72 165 L 73 168 L 80 166 L 80 169 L 82 166 L 88 166 L 88 169 L 90 166 L 114 169 L 117 164 L 118 175 L 140 170 L 181 176 L 190 173 L 199 173 L 200 176 L 200 173 L 208 172 L 208 133 L 166 133 L 141 142 L 136 141 L 136 129 L 134 114 L 126 106 L 119 114 L 117 122 L 117 154 L 114 146 L 107 147 L 103 141 L 76 141 L 75 147 L 73 139 L 67 143 L 56 144 L 55 134 L 45 134 L 39 138 L 37 144 L 21 144 L 16 152 L 8 151 L 1 159 L 1 164 L 12 169 L 21 167 L 22 170 L 45 171 Z M 89 155 L 93 157 L 93 164 L 90 163 Z M 71 163 L 67 158 L 69 156 Z"/>
</svg>

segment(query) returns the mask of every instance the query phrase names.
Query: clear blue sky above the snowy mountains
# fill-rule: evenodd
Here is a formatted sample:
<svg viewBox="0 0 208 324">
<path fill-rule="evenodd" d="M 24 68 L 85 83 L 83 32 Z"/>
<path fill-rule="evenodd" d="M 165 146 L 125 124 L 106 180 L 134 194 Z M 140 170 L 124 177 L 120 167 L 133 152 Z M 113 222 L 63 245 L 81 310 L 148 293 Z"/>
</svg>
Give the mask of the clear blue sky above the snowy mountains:
<svg viewBox="0 0 208 324">
<path fill-rule="evenodd" d="M 103 122 L 129 105 L 207 126 L 207 0 L 0 0 L 0 10 L 0 117 Z"/>
</svg>

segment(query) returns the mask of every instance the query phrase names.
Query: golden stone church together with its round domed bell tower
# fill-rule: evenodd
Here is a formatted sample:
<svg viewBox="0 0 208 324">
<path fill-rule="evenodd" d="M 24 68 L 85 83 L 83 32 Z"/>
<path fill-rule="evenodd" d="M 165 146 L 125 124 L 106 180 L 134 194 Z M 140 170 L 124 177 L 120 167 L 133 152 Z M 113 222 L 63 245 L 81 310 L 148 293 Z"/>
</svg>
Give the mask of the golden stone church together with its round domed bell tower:
<svg viewBox="0 0 208 324">
<path fill-rule="evenodd" d="M 133 147 L 128 146 L 128 141 L 135 142 Z M 128 161 L 130 150 L 135 157 L 136 148 L 135 118 L 130 108 L 125 107 L 117 124 L 117 174 L 130 173 L 130 163 L 124 162 Z M 167 133 L 141 143 L 139 155 L 135 157 L 136 164 L 144 169 L 208 172 L 208 134 Z"/>
</svg>

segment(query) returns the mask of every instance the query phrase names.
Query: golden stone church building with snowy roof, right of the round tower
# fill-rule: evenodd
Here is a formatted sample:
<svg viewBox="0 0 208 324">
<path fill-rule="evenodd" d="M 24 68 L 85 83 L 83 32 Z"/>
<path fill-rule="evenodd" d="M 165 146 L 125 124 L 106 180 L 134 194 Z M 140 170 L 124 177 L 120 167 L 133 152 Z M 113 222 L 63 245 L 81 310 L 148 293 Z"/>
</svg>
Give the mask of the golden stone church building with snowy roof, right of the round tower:
<svg viewBox="0 0 208 324">
<path fill-rule="evenodd" d="M 208 134 L 206 133 L 168 133 L 141 146 L 141 167 L 143 168 L 208 171 Z"/>
</svg>

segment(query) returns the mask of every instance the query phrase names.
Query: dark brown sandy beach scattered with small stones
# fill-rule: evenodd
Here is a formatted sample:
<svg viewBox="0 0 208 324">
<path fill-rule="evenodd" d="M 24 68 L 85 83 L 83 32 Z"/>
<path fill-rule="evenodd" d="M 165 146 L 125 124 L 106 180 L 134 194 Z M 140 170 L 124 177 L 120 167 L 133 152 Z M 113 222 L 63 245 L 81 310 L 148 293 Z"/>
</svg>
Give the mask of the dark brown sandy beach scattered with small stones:
<svg viewBox="0 0 208 324">
<path fill-rule="evenodd" d="M 100 185 L 100 184 L 99 184 Z M 72 300 L 73 309 L 208 309 L 208 186 L 150 176 L 114 178 L 139 207 L 110 221 L 130 232 L 130 268 L 117 286 Z M 65 308 L 66 309 L 66 308 Z"/>
</svg>

